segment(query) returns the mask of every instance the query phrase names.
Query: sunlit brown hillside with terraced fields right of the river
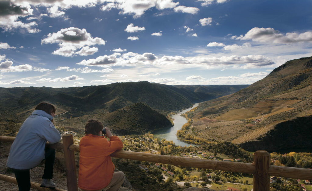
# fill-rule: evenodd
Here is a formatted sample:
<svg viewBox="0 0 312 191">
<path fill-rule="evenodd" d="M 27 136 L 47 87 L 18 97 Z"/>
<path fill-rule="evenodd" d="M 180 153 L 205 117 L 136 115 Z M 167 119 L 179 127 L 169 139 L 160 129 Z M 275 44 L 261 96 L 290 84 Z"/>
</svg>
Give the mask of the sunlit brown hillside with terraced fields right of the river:
<svg viewBox="0 0 312 191">
<path fill-rule="evenodd" d="M 287 61 L 236 93 L 200 104 L 187 113 L 193 127 L 186 133 L 240 144 L 311 114 L 312 57 L 307 57 Z"/>
</svg>

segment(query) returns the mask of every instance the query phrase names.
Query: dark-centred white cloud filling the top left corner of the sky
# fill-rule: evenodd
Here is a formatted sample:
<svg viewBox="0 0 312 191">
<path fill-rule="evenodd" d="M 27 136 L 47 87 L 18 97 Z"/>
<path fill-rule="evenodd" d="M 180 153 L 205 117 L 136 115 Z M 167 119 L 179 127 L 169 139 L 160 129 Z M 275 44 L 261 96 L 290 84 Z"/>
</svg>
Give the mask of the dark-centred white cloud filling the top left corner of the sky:
<svg viewBox="0 0 312 191">
<path fill-rule="evenodd" d="M 40 32 L 35 27 L 38 25 L 35 21 L 24 23 L 19 21 L 20 17 L 32 15 L 33 9 L 28 2 L 13 3 L 9 0 L 0 1 L 0 27 L 4 31 L 13 31 L 14 29 L 25 29 L 29 33 Z"/>
</svg>

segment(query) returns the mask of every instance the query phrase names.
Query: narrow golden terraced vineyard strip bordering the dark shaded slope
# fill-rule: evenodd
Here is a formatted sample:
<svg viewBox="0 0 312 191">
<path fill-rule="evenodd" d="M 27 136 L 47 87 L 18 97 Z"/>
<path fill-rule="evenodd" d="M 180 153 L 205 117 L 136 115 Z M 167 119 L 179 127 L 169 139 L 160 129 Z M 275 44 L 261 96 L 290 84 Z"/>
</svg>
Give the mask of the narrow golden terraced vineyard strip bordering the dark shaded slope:
<svg viewBox="0 0 312 191">
<path fill-rule="evenodd" d="M 285 120 L 278 120 L 278 121 L 270 123 L 269 125 L 266 125 L 265 127 L 260 127 L 260 128 L 251 130 L 251 131 L 245 133 L 244 135 L 238 137 L 237 139 L 234 139 L 232 141 L 232 143 L 239 144 L 239 143 L 243 143 L 246 141 L 254 140 L 258 136 L 260 136 L 260 135 L 268 132 L 269 130 L 273 129 L 276 124 L 283 122 L 283 121 L 285 121 Z"/>
</svg>

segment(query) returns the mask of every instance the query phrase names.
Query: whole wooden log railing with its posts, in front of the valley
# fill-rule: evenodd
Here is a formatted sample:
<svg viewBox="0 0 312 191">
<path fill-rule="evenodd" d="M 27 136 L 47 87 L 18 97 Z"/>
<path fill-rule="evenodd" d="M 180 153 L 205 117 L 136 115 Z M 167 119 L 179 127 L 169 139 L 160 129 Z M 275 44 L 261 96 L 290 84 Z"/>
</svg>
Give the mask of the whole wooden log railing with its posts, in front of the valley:
<svg viewBox="0 0 312 191">
<path fill-rule="evenodd" d="M 13 142 L 14 139 L 15 137 L 0 136 L 0 141 L 2 142 Z M 79 145 L 74 144 L 73 136 L 64 135 L 63 143 L 55 143 L 55 144 L 46 143 L 46 144 L 51 148 L 64 150 L 67 189 L 68 191 L 78 191 L 75 152 L 79 152 Z M 179 156 L 156 155 L 125 150 L 117 150 L 110 156 L 131 160 L 142 160 L 148 162 L 164 163 L 170 165 L 180 165 L 203 169 L 224 170 L 231 172 L 253 174 L 254 191 L 269 191 L 270 176 L 281 176 L 287 178 L 312 180 L 312 170 L 310 169 L 270 165 L 271 156 L 265 150 L 258 150 L 254 153 L 254 164 L 185 158 Z M 10 177 L 9 179 L 7 177 L 9 176 L 0 174 L 0 180 L 14 182 L 9 181 L 9 179 L 14 179 L 13 177 Z M 32 183 L 32 188 L 37 189 L 37 187 L 33 186 L 33 184 L 37 183 Z M 39 189 L 42 188 L 40 187 Z"/>
</svg>

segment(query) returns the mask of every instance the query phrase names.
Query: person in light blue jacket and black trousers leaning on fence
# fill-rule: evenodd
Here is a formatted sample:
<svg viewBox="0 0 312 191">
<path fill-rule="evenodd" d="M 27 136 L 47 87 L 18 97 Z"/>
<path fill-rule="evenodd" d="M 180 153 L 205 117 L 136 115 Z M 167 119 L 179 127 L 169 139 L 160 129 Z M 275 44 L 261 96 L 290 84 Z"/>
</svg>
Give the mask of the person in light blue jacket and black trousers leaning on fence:
<svg viewBox="0 0 312 191">
<path fill-rule="evenodd" d="M 25 120 L 15 137 L 7 159 L 7 167 L 12 168 L 20 191 L 30 190 L 29 170 L 46 160 L 41 187 L 55 188 L 53 183 L 53 165 L 55 149 L 46 148 L 61 139 L 53 124 L 56 108 L 51 103 L 41 102 L 35 111 Z"/>
</svg>

